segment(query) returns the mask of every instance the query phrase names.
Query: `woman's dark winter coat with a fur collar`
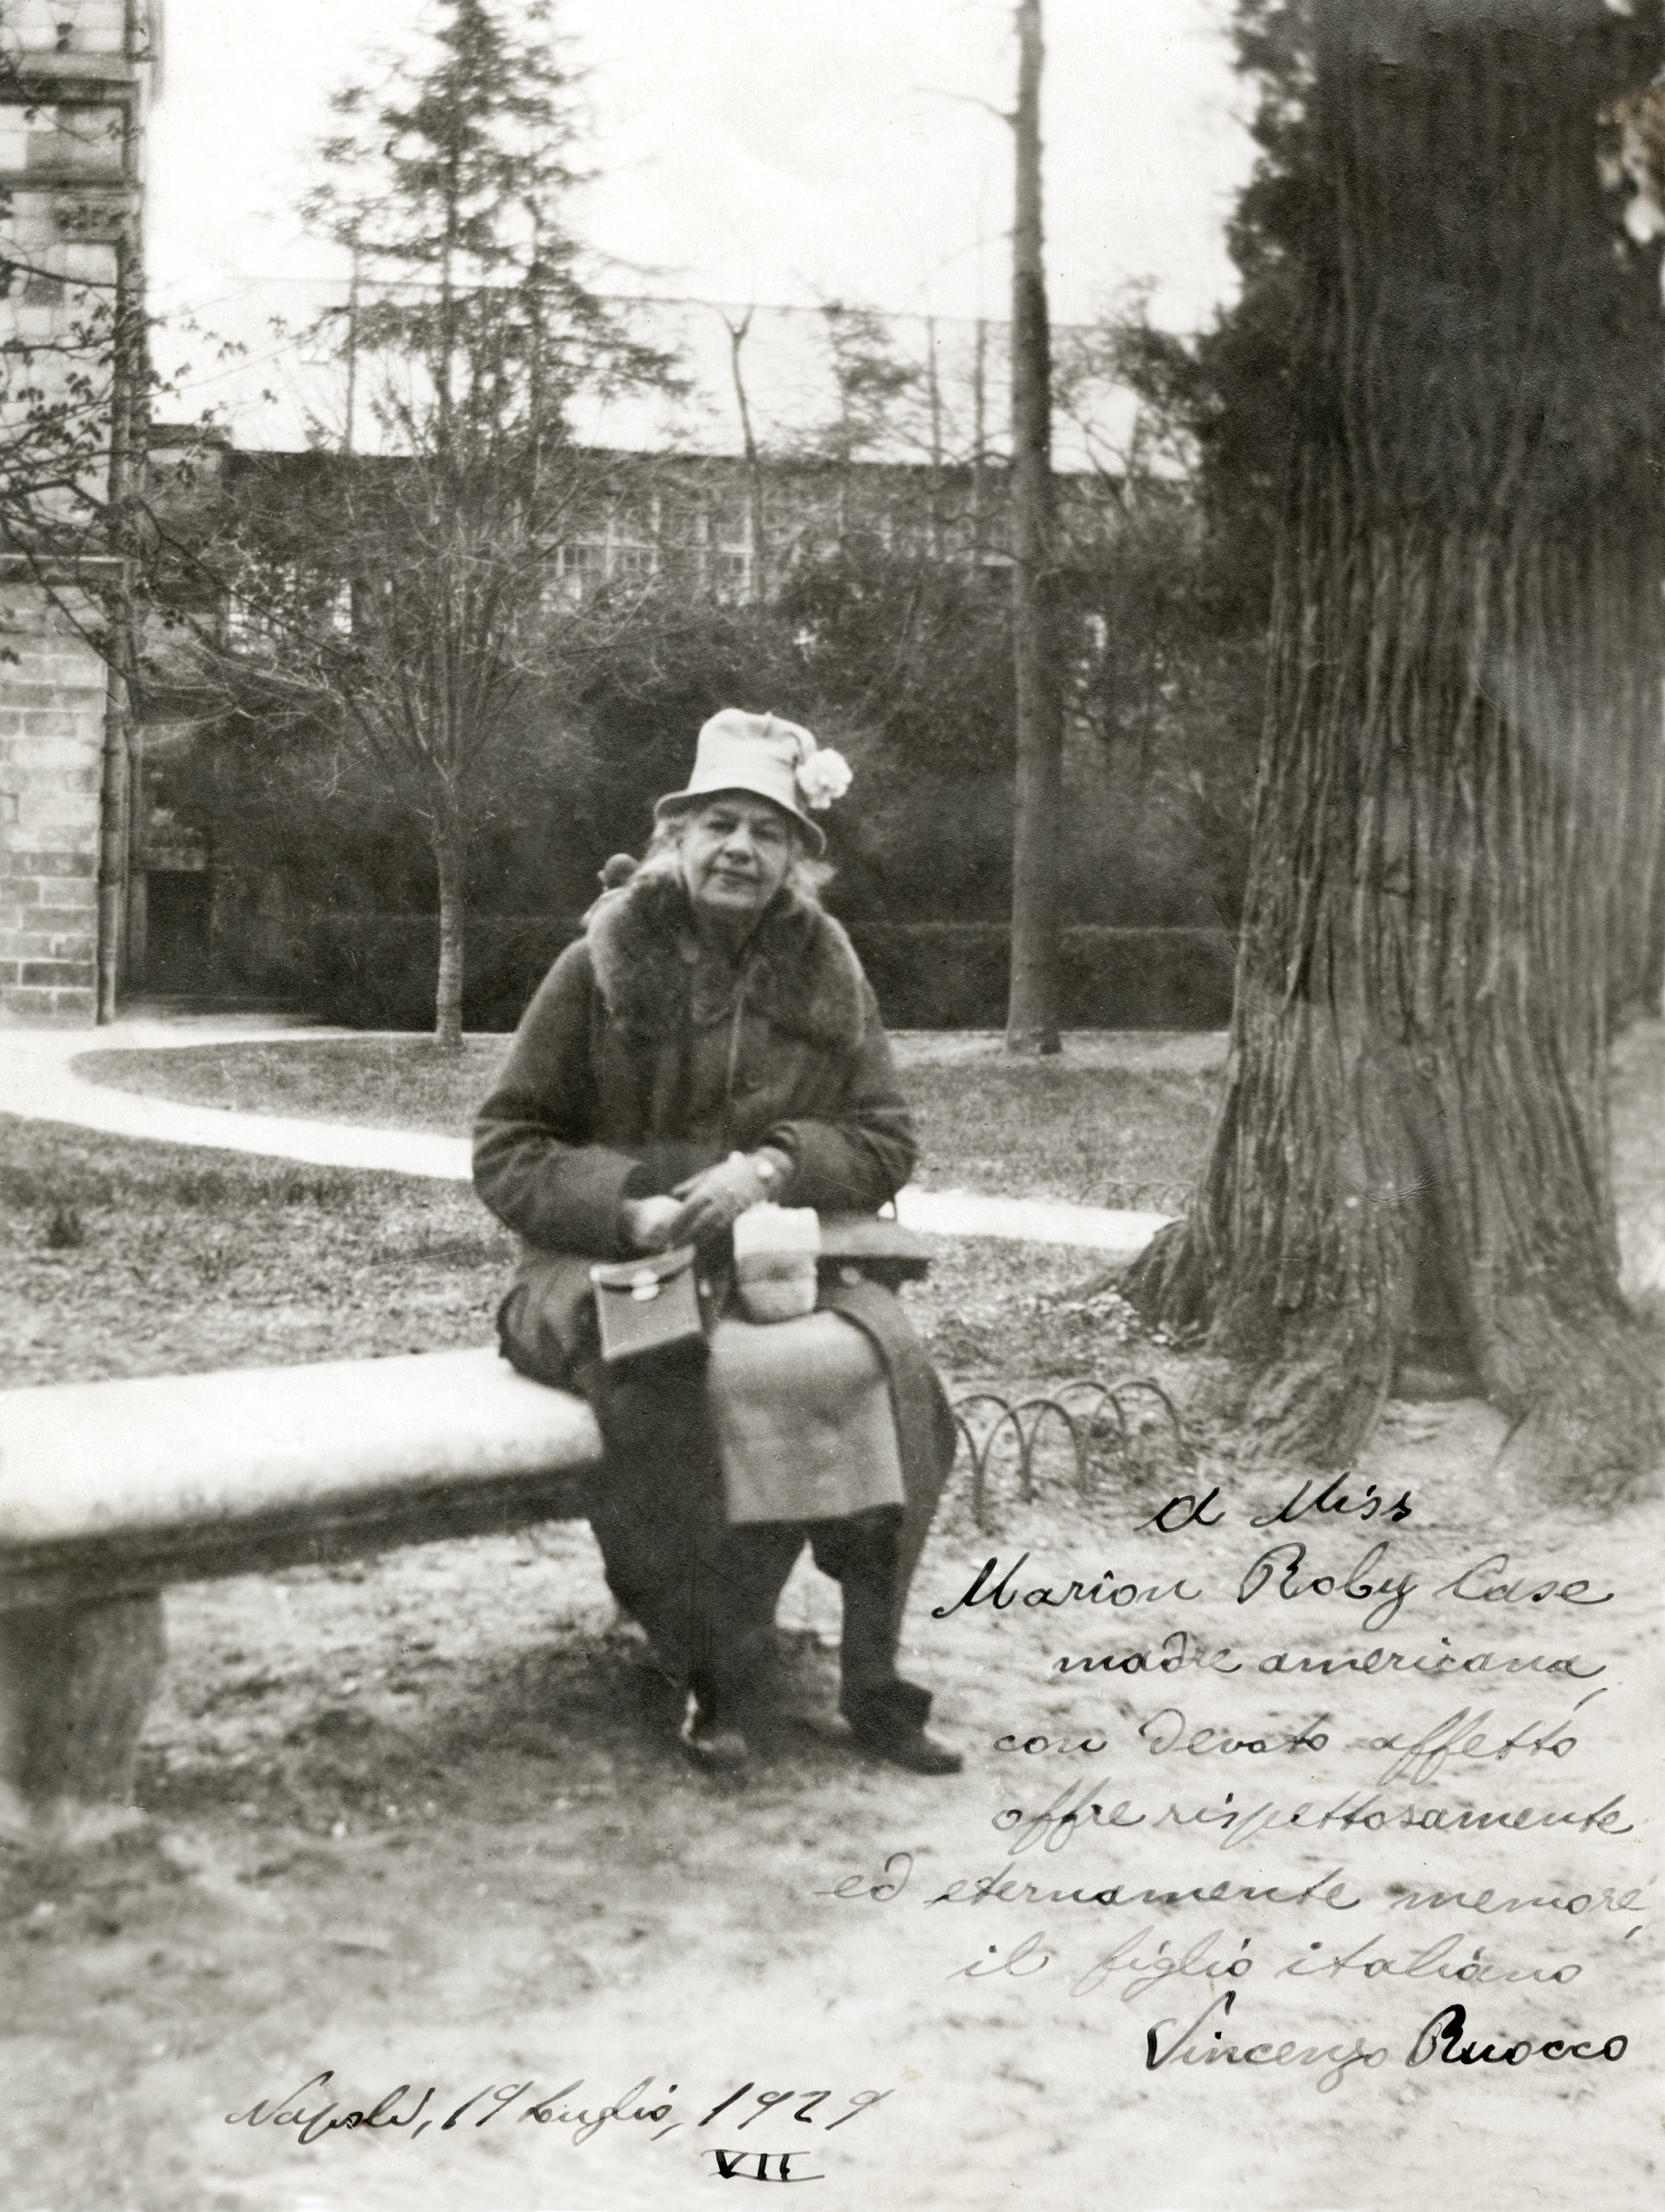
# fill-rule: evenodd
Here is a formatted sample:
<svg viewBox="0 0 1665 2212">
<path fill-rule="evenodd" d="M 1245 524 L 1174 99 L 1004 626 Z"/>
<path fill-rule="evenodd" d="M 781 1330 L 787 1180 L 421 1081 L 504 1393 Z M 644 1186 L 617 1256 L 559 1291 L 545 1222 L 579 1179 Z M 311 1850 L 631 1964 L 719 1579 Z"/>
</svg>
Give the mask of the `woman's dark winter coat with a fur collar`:
<svg viewBox="0 0 1665 2212">
<path fill-rule="evenodd" d="M 615 1595 L 637 1613 L 632 1577 L 630 1588 L 615 1577 L 626 1535 L 630 1548 L 641 1542 L 637 1504 L 663 1520 L 659 1548 L 685 1588 L 672 1555 L 692 1537 L 677 1513 L 694 1511 L 694 1493 L 705 1500 L 699 1511 L 719 1528 L 703 1542 L 721 1566 L 721 1495 L 692 1402 L 672 1387 L 655 1405 L 643 1396 L 643 1411 L 635 1396 L 650 1396 L 650 1380 L 637 1387 L 630 1369 L 615 1376 L 597 1358 L 590 1261 L 630 1256 L 624 1199 L 763 1144 L 792 1161 L 778 1190 L 787 1206 L 878 1212 L 896 1197 L 915 1141 L 873 991 L 838 922 L 789 891 L 732 969 L 699 945 L 681 876 L 648 867 L 597 902 L 582 942 L 544 978 L 473 1139 L 475 1190 L 522 1239 L 498 1316 L 504 1354 L 597 1407 L 608 1475 L 593 1522 Z M 867 1334 L 889 1376 L 907 1493 L 900 1606 L 953 1462 L 953 1416 L 891 1292 L 823 1283 L 820 1303 Z M 763 1599 L 767 1619 L 774 1595 Z M 674 1637 L 661 1630 L 661 1641 Z"/>
</svg>

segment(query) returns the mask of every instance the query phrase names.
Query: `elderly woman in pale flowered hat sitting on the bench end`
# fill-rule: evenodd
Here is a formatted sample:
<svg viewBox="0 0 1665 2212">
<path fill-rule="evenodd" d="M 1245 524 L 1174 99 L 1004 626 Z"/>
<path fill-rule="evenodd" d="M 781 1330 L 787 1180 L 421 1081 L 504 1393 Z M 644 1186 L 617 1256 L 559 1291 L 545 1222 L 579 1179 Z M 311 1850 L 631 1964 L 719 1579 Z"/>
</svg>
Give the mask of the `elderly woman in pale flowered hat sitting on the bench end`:
<svg viewBox="0 0 1665 2212">
<path fill-rule="evenodd" d="M 807 810 L 847 783 L 794 723 L 734 708 L 705 723 L 648 858 L 526 1009 L 473 1177 L 524 1248 L 504 1356 L 595 1407 L 590 1526 L 612 1595 L 685 1690 L 690 1756 L 745 1761 L 756 1657 L 807 1540 L 842 1586 L 854 1739 L 949 1774 L 960 1756 L 924 1734 L 929 1692 L 896 1672 L 953 1460 L 938 1378 L 900 1303 L 854 1270 L 803 1321 L 754 1327 L 734 1290 L 743 1212 L 876 1214 L 915 1157 L 873 991 L 816 896 L 825 838 Z M 604 1360 L 590 1263 L 683 1243 L 725 1316 L 710 1356 L 701 1338 Z"/>
</svg>

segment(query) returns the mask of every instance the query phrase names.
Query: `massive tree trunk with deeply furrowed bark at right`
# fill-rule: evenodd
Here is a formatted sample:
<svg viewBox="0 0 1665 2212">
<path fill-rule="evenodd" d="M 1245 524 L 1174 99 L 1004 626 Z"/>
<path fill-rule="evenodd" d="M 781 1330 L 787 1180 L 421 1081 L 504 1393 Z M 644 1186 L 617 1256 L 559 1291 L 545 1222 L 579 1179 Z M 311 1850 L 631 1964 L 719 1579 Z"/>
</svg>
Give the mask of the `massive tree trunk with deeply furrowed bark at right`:
<svg viewBox="0 0 1665 2212">
<path fill-rule="evenodd" d="M 1274 1449 L 1344 1460 L 1437 1363 L 1528 1464 L 1614 1489 L 1656 1447 L 1605 1053 L 1658 856 L 1665 564 L 1656 279 L 1594 117 L 1656 35 L 1601 0 L 1318 18 L 1329 228 L 1232 1053 L 1132 1292 L 1210 1327 Z"/>
</svg>

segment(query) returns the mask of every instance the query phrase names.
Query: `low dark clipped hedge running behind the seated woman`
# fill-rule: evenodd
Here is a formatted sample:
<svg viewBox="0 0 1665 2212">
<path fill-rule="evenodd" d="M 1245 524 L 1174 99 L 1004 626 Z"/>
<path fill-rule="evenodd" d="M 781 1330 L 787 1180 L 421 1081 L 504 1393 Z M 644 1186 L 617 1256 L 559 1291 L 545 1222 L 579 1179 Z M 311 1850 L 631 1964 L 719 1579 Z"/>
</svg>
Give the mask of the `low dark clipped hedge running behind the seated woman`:
<svg viewBox="0 0 1665 2212">
<path fill-rule="evenodd" d="M 464 927 L 464 1029 L 506 1031 L 575 916 L 471 914 Z M 854 922 L 851 940 L 891 1029 L 999 1029 L 1004 922 Z M 440 925 L 431 914 L 323 914 L 305 933 L 296 1000 L 349 1029 L 431 1029 Z M 1225 1029 L 1234 940 L 1225 929 L 1064 931 L 1066 1029 Z"/>
</svg>

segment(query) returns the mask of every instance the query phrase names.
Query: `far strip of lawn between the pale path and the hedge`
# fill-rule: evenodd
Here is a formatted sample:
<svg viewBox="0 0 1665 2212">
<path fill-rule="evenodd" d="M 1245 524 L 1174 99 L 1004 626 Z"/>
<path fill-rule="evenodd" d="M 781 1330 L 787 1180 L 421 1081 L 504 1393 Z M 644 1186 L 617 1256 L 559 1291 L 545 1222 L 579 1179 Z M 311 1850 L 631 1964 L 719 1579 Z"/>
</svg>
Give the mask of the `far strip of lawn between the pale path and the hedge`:
<svg viewBox="0 0 1665 2212">
<path fill-rule="evenodd" d="M 88 1053 L 93 1082 L 197 1106 L 462 1137 L 509 1048 L 469 1037 L 210 1044 Z M 1086 1033 L 1059 1060 L 1010 1062 L 991 1035 L 896 1037 L 920 1124 L 920 1183 L 997 1197 L 1179 1210 L 1203 1157 L 1223 1040 Z"/>
</svg>

